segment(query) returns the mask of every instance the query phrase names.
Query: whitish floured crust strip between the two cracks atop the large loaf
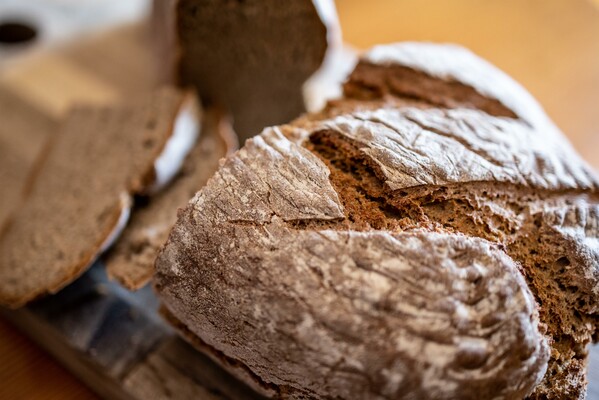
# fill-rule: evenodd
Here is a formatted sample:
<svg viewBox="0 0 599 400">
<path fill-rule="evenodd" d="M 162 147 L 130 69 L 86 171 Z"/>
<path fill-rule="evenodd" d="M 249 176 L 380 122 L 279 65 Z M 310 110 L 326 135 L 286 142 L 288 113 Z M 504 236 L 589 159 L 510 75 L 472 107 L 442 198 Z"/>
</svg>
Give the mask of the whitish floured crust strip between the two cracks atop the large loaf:
<svg viewBox="0 0 599 400">
<path fill-rule="evenodd" d="M 562 137 L 480 111 L 379 109 L 336 117 L 317 130 L 355 143 L 390 190 L 479 181 L 552 190 L 598 187 Z"/>
</svg>

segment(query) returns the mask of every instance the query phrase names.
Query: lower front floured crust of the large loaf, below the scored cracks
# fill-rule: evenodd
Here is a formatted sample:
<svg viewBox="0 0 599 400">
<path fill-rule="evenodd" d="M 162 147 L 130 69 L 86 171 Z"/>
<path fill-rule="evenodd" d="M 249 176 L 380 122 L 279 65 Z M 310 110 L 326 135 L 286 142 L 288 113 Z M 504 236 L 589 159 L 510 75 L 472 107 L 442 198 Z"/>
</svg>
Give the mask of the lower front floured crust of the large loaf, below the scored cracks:
<svg viewBox="0 0 599 400">
<path fill-rule="evenodd" d="M 193 214 L 210 212 L 189 211 L 182 218 L 194 223 Z M 190 237 L 175 228 L 171 240 L 202 243 L 199 232 Z M 218 263 L 187 293 L 204 285 L 209 292 L 185 304 L 173 301 L 182 293 L 172 288 L 205 260 L 190 254 L 161 276 L 163 300 L 178 318 L 204 327 L 198 335 L 204 342 L 234 353 L 291 398 L 516 398 L 545 372 L 547 344 L 536 328 L 532 296 L 516 266 L 488 243 L 298 231 L 276 216 L 260 229 L 222 223 L 209 232 L 232 238 L 219 241 L 226 255 L 202 249 Z M 302 262 L 289 261 L 290 254 Z M 229 269 L 230 263 L 244 268 Z M 206 304 L 216 307 L 208 311 Z"/>
</svg>

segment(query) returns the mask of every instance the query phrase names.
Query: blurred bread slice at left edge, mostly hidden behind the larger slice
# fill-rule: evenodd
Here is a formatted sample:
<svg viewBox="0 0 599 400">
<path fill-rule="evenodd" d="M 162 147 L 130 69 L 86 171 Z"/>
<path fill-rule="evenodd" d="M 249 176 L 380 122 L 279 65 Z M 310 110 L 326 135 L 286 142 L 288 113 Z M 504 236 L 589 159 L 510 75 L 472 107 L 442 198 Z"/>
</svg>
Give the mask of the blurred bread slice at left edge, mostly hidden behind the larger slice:
<svg viewBox="0 0 599 400">
<path fill-rule="evenodd" d="M 27 174 L 57 122 L 9 89 L 0 89 L 0 230 L 21 202 Z"/>
</svg>

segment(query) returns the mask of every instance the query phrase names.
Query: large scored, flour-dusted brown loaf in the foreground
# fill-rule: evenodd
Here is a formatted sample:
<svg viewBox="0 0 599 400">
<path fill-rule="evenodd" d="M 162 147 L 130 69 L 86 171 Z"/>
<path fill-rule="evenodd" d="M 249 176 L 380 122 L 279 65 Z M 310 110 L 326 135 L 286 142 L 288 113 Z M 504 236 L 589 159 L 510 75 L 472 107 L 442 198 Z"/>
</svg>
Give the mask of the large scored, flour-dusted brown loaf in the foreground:
<svg viewBox="0 0 599 400">
<path fill-rule="evenodd" d="M 270 397 L 584 398 L 593 171 L 456 46 L 376 47 L 344 92 L 179 212 L 156 262 L 169 319 Z"/>
</svg>

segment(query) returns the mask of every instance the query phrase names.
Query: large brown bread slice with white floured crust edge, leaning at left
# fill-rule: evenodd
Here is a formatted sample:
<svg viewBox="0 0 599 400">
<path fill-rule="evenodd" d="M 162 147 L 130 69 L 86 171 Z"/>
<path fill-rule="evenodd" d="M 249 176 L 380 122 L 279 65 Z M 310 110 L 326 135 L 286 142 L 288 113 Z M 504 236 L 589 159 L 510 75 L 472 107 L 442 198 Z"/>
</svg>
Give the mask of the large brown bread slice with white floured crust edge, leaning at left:
<svg viewBox="0 0 599 400">
<path fill-rule="evenodd" d="M 75 109 L 0 235 L 0 302 L 22 306 L 85 271 L 124 228 L 132 194 L 168 180 L 165 159 L 182 162 L 197 118 L 195 97 L 173 89 L 132 106 Z"/>
</svg>

